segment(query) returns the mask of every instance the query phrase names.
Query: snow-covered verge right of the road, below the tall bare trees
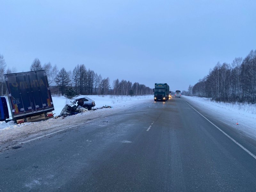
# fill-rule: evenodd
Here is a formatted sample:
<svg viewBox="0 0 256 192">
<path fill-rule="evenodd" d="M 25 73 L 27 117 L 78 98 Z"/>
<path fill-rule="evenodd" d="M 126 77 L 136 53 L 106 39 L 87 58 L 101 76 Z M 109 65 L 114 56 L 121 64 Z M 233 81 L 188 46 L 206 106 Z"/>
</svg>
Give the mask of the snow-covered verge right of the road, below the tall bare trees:
<svg viewBox="0 0 256 192">
<path fill-rule="evenodd" d="M 195 96 L 182 98 L 256 140 L 256 104 L 230 104 Z"/>
</svg>

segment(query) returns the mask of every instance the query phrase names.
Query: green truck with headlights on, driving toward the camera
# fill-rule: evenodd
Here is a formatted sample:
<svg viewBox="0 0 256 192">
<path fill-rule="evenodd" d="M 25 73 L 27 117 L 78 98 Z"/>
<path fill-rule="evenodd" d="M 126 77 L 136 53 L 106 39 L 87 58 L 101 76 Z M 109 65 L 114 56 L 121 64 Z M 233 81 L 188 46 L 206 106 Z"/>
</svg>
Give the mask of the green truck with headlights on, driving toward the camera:
<svg viewBox="0 0 256 192">
<path fill-rule="evenodd" d="M 154 100 L 166 101 L 169 99 L 170 87 L 167 83 L 155 83 Z"/>
</svg>

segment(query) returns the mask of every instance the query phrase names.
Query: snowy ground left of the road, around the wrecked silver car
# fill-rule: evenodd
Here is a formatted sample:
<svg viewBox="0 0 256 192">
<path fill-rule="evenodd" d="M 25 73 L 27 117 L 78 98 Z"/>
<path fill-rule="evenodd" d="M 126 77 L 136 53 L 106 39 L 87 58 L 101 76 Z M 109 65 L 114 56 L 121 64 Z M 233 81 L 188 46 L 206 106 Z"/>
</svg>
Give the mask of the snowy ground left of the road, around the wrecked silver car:
<svg viewBox="0 0 256 192">
<path fill-rule="evenodd" d="M 0 152 L 14 145 L 18 145 L 26 140 L 30 140 L 48 133 L 60 131 L 67 128 L 72 128 L 76 125 L 75 122 L 79 124 L 86 123 L 93 119 L 107 116 L 113 114 L 126 108 L 132 107 L 134 105 L 140 105 L 149 98 L 152 98 L 152 95 L 146 96 L 88 96 L 95 101 L 96 106 L 94 108 L 100 108 L 102 106 L 108 105 L 113 108 L 103 108 L 97 109 L 95 111 L 87 111 L 84 113 L 79 113 L 74 116 L 67 116 L 63 118 L 52 118 L 46 121 L 34 122 L 34 123 L 23 123 L 15 124 L 13 121 L 8 123 L 0 122 Z M 71 100 L 68 100 L 64 97 L 52 97 L 54 104 L 54 116 L 60 115 L 62 108 L 69 103 Z"/>
</svg>

